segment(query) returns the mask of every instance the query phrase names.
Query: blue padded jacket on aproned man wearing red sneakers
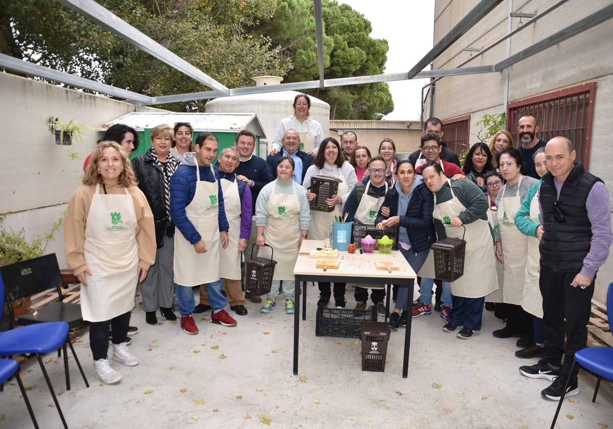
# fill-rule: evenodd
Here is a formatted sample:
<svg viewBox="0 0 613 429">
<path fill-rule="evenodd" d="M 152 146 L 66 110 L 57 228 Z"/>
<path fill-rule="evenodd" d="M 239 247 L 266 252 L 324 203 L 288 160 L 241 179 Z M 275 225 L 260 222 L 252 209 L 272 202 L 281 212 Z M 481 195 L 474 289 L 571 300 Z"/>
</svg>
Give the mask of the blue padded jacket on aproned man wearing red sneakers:
<svg viewBox="0 0 613 429">
<path fill-rule="evenodd" d="M 199 169 L 200 180 L 211 183 L 217 180 L 219 230 L 227 231 L 230 226 L 226 219 L 226 210 L 224 210 L 224 196 L 221 191 L 219 170 L 213 166 L 213 172 L 215 173 L 215 178 L 213 178 L 210 167 L 200 165 Z M 194 153 L 186 153 L 185 156 L 183 156 L 183 162 L 170 178 L 170 217 L 175 226 L 177 226 L 183 234 L 183 237 L 192 245 L 195 245 L 202 238 L 185 213 L 185 208 L 188 207 L 189 203 L 194 199 L 194 194 L 196 194 L 196 164 L 194 164 Z"/>
</svg>

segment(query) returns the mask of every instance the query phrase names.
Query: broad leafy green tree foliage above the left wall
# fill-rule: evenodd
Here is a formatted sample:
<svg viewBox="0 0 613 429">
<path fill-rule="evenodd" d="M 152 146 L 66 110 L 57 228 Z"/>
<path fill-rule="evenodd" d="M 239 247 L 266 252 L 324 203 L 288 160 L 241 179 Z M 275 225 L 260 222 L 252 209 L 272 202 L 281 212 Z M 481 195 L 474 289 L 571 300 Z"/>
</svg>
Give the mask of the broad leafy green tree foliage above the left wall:
<svg viewBox="0 0 613 429">
<path fill-rule="evenodd" d="M 291 67 L 267 37 L 245 31 L 272 15 L 275 0 L 98 1 L 229 88 Z M 16 58 L 149 96 L 210 89 L 58 2 L 2 1 L 0 20 L 0 50 Z M 204 102 L 160 107 L 202 110 Z"/>
</svg>

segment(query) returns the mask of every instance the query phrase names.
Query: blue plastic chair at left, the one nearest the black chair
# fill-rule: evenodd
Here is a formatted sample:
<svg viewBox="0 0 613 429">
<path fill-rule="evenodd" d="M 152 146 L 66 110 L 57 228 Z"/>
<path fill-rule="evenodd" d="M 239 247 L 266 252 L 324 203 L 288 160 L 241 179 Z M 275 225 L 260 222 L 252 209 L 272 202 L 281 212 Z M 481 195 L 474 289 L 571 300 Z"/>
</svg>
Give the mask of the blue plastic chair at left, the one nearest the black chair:
<svg viewBox="0 0 613 429">
<path fill-rule="evenodd" d="M 0 308 L 4 307 L 4 281 L 0 276 Z M 0 315 L 2 317 L 2 315 Z M 66 322 L 44 322 L 34 325 L 27 325 L 6 332 L 0 332 L 0 356 L 12 356 L 16 354 L 30 353 L 36 356 L 40 369 L 45 376 L 47 387 L 58 410 L 59 418 L 62 420 L 64 428 L 68 428 L 64 414 L 59 406 L 58 398 L 55 396 L 53 385 L 45 370 L 42 355 L 55 352 L 59 347 L 66 343 L 68 338 L 68 324 Z M 32 419 L 34 414 L 31 414 Z"/>
</svg>

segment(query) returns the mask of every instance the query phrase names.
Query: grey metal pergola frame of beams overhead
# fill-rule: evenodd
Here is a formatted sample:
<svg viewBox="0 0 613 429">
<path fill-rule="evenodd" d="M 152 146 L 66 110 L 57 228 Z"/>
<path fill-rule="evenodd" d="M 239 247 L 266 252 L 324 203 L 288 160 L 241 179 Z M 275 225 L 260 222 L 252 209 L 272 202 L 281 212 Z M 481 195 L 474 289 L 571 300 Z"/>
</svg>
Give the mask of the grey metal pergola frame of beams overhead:
<svg viewBox="0 0 613 429">
<path fill-rule="evenodd" d="M 546 37 L 533 45 L 519 51 L 518 53 L 505 58 L 498 63 L 491 64 L 489 66 L 476 66 L 476 67 L 462 67 L 468 63 L 470 59 L 464 61 L 459 66 L 452 69 L 436 69 L 436 70 L 423 70 L 428 64 L 431 64 L 434 59 L 438 58 L 447 48 L 449 48 L 454 42 L 462 37 L 468 30 L 473 28 L 487 13 L 491 12 L 498 4 L 503 0 L 481 0 L 479 3 L 466 14 L 462 20 L 449 31 L 443 39 L 438 42 L 415 66 L 406 73 L 395 74 L 382 74 L 382 75 L 369 75 L 359 77 L 337 78 L 337 79 L 325 79 L 324 78 L 324 59 L 323 59 L 323 25 L 322 25 L 322 6 L 321 0 L 313 0 L 314 6 L 314 18 L 316 27 L 316 39 L 318 49 L 318 66 L 319 66 L 319 80 L 311 80 L 307 82 L 296 83 L 281 83 L 278 85 L 265 85 L 265 86 L 249 86 L 244 88 L 227 88 L 222 83 L 217 82 L 209 75 L 205 74 L 202 70 L 192 66 L 184 59 L 175 55 L 167 48 L 158 44 L 155 40 L 151 39 L 143 32 L 134 26 L 129 25 L 126 21 L 117 17 L 115 14 L 105 9 L 101 5 L 97 4 L 94 0 L 58 0 L 64 6 L 69 7 L 75 12 L 79 13 L 83 17 L 88 18 L 94 23 L 102 26 L 121 39 L 124 39 L 134 45 L 146 51 L 154 58 L 169 64 L 175 69 L 179 70 L 183 74 L 188 75 L 196 79 L 198 82 L 204 83 L 211 91 L 202 91 L 197 93 L 188 94 L 172 94 L 167 96 L 150 97 L 143 94 L 135 93 L 134 91 L 128 91 L 126 89 L 117 88 L 116 86 L 107 85 L 105 83 L 96 82 L 94 80 L 78 77 L 75 75 L 60 72 L 58 70 L 50 69 L 48 67 L 39 66 L 38 64 L 28 63 L 21 61 L 20 59 L 13 58 L 12 56 L 0 54 L 0 67 L 13 72 L 19 72 L 27 75 L 32 75 L 55 82 L 65 83 L 67 85 L 76 86 L 78 88 L 88 89 L 95 91 L 96 93 L 107 94 L 109 96 L 126 99 L 127 101 L 134 102 L 135 104 L 142 105 L 156 105 L 166 104 L 183 101 L 193 101 L 200 99 L 212 99 L 217 97 L 237 96 L 245 94 L 261 94 L 272 93 L 278 91 L 288 91 L 297 89 L 314 89 L 314 88 L 330 88 L 332 86 L 344 86 L 344 85 L 360 85 L 364 83 L 375 82 L 394 82 L 399 80 L 411 80 L 413 78 L 440 78 L 454 75 L 466 75 L 466 74 L 481 74 L 481 73 L 494 73 L 519 63 L 524 59 L 530 58 L 537 53 L 552 47 L 555 44 L 576 36 L 586 29 L 590 29 L 595 25 L 603 23 L 613 17 L 613 4 L 605 6 L 595 13 L 592 13 L 588 17 L 567 25 L 560 31 Z M 539 15 L 531 18 L 525 25 L 509 32 L 506 36 L 501 37 L 493 44 L 480 50 L 472 58 L 482 55 L 485 51 L 490 50 L 493 46 L 501 43 L 503 40 L 508 39 L 521 29 L 527 28 L 528 23 L 532 23 L 539 18 L 542 18 L 547 13 L 551 12 L 564 2 L 568 0 L 559 0 L 553 6 L 544 10 Z M 471 59 L 472 59 L 471 58 Z M 431 84 L 428 84 L 428 86 Z"/>
</svg>

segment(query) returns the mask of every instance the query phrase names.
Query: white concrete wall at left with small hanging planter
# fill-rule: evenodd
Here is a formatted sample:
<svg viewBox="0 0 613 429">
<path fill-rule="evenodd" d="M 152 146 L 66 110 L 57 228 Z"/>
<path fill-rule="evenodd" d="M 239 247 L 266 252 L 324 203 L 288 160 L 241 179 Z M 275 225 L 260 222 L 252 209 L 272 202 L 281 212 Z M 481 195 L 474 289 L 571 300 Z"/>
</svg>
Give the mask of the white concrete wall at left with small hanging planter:
<svg viewBox="0 0 613 429">
<path fill-rule="evenodd" d="M 157 112 L 112 99 L 61 88 L 10 74 L 0 74 L 0 213 L 9 213 L 4 227 L 23 228 L 28 240 L 48 232 L 66 210 L 72 192 L 81 184 L 83 159 L 71 161 L 66 146 L 55 145 L 48 117 L 77 118 L 80 124 L 99 127 L 129 112 Z M 102 132 L 86 131 L 84 144 L 74 150 L 87 156 Z M 55 252 L 66 267 L 63 230 L 47 252 Z"/>
</svg>

